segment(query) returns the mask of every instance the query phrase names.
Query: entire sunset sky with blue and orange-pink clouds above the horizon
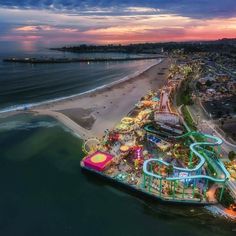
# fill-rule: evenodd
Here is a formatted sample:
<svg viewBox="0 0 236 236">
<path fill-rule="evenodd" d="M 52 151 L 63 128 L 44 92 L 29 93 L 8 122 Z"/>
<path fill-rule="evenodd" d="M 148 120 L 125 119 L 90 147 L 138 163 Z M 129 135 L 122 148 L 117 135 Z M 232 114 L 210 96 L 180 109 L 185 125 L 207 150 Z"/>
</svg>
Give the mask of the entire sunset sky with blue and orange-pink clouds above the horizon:
<svg viewBox="0 0 236 236">
<path fill-rule="evenodd" d="M 236 37 L 235 0 L 0 0 L 0 44 L 59 46 Z"/>
</svg>

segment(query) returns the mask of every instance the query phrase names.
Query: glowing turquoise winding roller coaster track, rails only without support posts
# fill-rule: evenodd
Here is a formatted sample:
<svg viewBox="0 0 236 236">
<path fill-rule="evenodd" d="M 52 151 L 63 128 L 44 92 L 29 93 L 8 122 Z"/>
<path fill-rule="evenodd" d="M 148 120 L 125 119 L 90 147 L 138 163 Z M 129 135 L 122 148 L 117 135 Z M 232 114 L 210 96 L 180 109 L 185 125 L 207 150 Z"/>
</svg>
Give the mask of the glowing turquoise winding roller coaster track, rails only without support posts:
<svg viewBox="0 0 236 236">
<path fill-rule="evenodd" d="M 150 132 L 150 127 L 149 126 L 145 126 L 144 129 L 146 131 Z M 153 130 L 151 132 L 153 132 Z M 156 133 L 158 134 L 158 132 L 156 132 Z M 202 166 L 206 162 L 205 156 L 208 157 L 208 158 L 211 158 L 211 157 L 208 156 L 208 153 L 210 151 L 206 150 L 204 147 L 206 147 L 206 146 L 211 146 L 211 147 L 220 146 L 223 143 L 223 141 L 220 138 L 216 137 L 216 136 L 212 136 L 212 135 L 209 135 L 209 134 L 203 134 L 203 133 L 195 132 L 195 131 L 194 132 L 188 132 L 188 133 L 185 133 L 181 136 L 176 136 L 176 137 L 172 137 L 172 138 L 181 139 L 181 138 L 193 137 L 193 136 L 200 136 L 200 137 L 203 137 L 204 139 L 207 139 L 207 140 L 210 139 L 210 140 L 212 140 L 212 142 L 204 141 L 204 142 L 194 142 L 194 143 L 190 144 L 189 148 L 190 148 L 191 152 L 194 153 L 195 156 L 197 156 L 199 158 L 198 164 L 194 168 L 191 168 L 191 169 L 180 168 L 180 167 L 174 166 L 173 167 L 174 170 L 188 172 L 188 173 L 198 172 L 199 170 L 201 170 Z M 216 178 L 216 177 L 212 177 L 212 176 L 208 176 L 208 175 L 201 175 L 201 174 L 193 174 L 193 175 L 184 176 L 184 177 L 182 177 L 182 176 L 163 177 L 161 175 L 155 174 L 155 173 L 148 170 L 148 165 L 151 162 L 157 162 L 157 163 L 165 165 L 165 166 L 170 165 L 168 162 L 165 162 L 165 161 L 157 159 L 157 158 L 152 158 L 152 159 L 146 160 L 143 164 L 143 172 L 144 172 L 144 174 L 146 174 L 148 176 L 155 177 L 157 179 L 165 179 L 165 180 L 169 180 L 169 181 L 184 180 L 184 179 L 200 179 L 201 178 L 201 179 L 211 180 L 211 181 L 214 181 L 214 182 L 217 182 L 217 183 L 225 183 L 230 177 L 229 172 L 226 170 L 223 163 L 217 157 L 212 158 L 212 160 L 215 162 L 216 165 L 218 165 L 218 167 L 220 167 L 221 171 L 224 173 L 223 178 Z"/>
</svg>

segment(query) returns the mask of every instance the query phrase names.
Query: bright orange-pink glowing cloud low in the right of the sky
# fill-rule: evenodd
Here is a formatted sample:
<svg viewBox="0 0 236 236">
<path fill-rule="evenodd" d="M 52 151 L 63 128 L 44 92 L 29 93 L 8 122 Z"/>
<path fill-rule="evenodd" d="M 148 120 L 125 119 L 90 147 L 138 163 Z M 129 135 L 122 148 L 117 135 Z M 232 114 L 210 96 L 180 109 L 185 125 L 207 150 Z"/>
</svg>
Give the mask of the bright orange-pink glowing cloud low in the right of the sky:
<svg viewBox="0 0 236 236">
<path fill-rule="evenodd" d="M 126 25 L 91 29 L 97 43 L 211 40 L 236 37 L 236 18 L 197 20 L 175 15 L 151 16 Z"/>
</svg>

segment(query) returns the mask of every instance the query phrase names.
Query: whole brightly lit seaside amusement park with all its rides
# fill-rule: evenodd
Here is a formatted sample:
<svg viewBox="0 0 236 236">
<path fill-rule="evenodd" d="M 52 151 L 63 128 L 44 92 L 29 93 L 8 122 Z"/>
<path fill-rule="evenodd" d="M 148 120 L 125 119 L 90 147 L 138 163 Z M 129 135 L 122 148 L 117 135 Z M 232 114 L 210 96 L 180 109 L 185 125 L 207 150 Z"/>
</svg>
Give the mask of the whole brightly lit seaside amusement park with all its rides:
<svg viewBox="0 0 236 236">
<path fill-rule="evenodd" d="M 171 94 L 170 86 L 150 91 L 102 139 L 86 140 L 81 166 L 165 202 L 215 204 L 230 177 L 222 140 L 187 130 Z"/>
</svg>

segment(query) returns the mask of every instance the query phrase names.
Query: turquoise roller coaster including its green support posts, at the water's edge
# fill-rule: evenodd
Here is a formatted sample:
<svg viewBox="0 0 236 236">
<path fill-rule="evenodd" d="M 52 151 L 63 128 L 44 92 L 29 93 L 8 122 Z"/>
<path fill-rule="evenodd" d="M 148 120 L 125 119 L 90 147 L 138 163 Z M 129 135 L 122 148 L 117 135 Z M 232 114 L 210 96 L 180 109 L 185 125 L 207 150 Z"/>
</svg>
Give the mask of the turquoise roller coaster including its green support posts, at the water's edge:
<svg viewBox="0 0 236 236">
<path fill-rule="evenodd" d="M 164 166 L 168 168 L 171 164 L 158 158 L 152 158 L 149 160 L 146 160 L 143 164 L 143 183 L 142 183 L 142 188 L 146 189 L 148 188 L 148 191 L 150 192 L 151 189 L 151 182 L 153 179 L 158 179 L 160 181 L 159 184 L 159 189 L 158 192 L 160 194 L 160 197 L 162 196 L 162 181 L 170 181 L 171 186 L 172 183 L 174 183 L 174 190 L 173 190 L 173 199 L 175 199 L 175 187 L 176 183 L 178 181 L 183 182 L 183 195 L 181 200 L 186 200 L 184 199 L 184 190 L 186 188 L 186 183 L 192 181 L 192 187 L 193 187 L 193 194 L 194 194 L 194 189 L 199 181 L 204 183 L 204 196 L 206 196 L 206 191 L 208 189 L 208 182 L 212 181 L 214 183 L 219 183 L 223 184 L 223 188 L 220 194 L 220 199 L 223 195 L 224 191 L 224 184 L 225 182 L 229 179 L 230 175 L 226 168 L 224 167 L 223 163 L 218 159 L 218 154 L 220 151 L 220 146 L 222 144 L 222 140 L 218 137 L 209 135 L 209 134 L 203 134 L 200 132 L 188 132 L 185 133 L 184 135 L 178 136 L 178 137 L 173 137 L 175 139 L 183 139 L 183 138 L 192 138 L 194 137 L 201 137 L 204 141 L 198 142 L 195 141 L 192 144 L 190 144 L 190 157 L 189 157 L 189 168 L 181 168 L 177 166 L 173 166 L 173 173 L 172 176 L 163 176 L 161 173 L 154 173 L 153 171 L 153 164 L 157 164 L 159 166 Z M 211 140 L 211 141 L 209 141 Z M 217 151 L 213 150 L 208 150 L 207 147 L 218 147 Z M 193 155 L 195 155 L 198 159 L 199 162 L 192 167 L 192 158 Z M 214 164 L 218 167 L 218 169 L 222 172 L 220 177 L 219 176 L 209 176 L 209 175 L 204 175 L 202 174 L 202 168 L 206 162 L 213 161 Z M 148 183 L 146 183 L 148 179 Z"/>
</svg>

